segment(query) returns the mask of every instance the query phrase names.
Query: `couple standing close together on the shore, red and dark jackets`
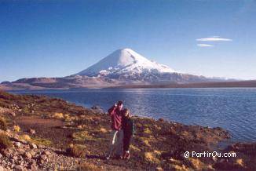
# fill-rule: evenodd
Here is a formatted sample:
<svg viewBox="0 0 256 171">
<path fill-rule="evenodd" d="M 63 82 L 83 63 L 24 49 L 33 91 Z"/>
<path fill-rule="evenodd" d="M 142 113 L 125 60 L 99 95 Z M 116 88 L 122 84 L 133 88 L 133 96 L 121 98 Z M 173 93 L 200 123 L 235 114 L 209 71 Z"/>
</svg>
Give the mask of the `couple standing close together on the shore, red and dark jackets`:
<svg viewBox="0 0 256 171">
<path fill-rule="evenodd" d="M 127 108 L 123 109 L 123 101 L 119 101 L 108 109 L 108 114 L 112 118 L 112 142 L 106 159 L 109 160 L 111 155 L 129 159 L 130 140 L 134 136 L 134 122 L 130 111 Z"/>
</svg>

